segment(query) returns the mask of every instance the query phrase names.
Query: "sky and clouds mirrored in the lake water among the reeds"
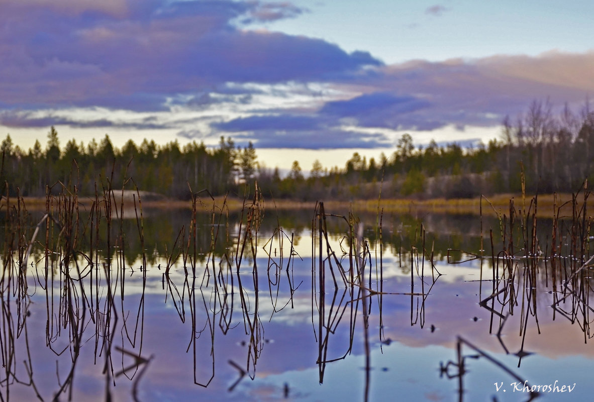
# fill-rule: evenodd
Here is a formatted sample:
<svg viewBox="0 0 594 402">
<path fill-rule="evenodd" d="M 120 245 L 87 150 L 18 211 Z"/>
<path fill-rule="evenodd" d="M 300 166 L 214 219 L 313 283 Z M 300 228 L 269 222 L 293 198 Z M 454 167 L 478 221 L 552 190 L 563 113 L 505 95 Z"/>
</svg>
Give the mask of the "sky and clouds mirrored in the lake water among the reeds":
<svg viewBox="0 0 594 402">
<path fill-rule="evenodd" d="M 251 367 L 252 381 L 245 376 L 232 392 L 228 388 L 239 378 L 238 370 L 229 364 L 232 360 L 242 368 L 248 366 L 249 334 L 244 326 L 241 311 L 241 300 L 238 289 L 238 277 L 235 267 L 224 271 L 226 289 L 230 298 L 233 296 L 233 315 L 230 317 L 230 329 L 223 334 L 220 324 L 221 310 L 217 305 L 219 297 L 214 293 L 212 265 L 211 277 L 203 281 L 204 267 L 198 267 L 197 278 L 192 283 L 185 283 L 184 269 L 178 263 L 172 268 L 170 279 L 175 287 L 168 287 L 163 282 L 164 261 L 160 261 L 159 270 L 153 263 L 147 271 L 144 299 L 143 272 L 126 268 L 124 276 L 113 276 L 112 292 L 116 297 L 115 315 L 118 321 L 113 322 L 115 337 L 113 347 L 121 346 L 125 350 L 140 353 L 141 356 L 153 356 L 147 372 L 140 379 L 139 397 L 143 401 L 175 401 L 193 400 L 246 400 L 266 401 L 280 400 L 284 384 L 289 385 L 289 400 L 363 400 L 365 379 L 365 356 L 362 331 L 362 306 L 354 324 L 354 340 L 352 352 L 343 360 L 328 363 L 323 384 L 319 384 L 319 373 L 316 360 L 318 356 L 319 337 L 317 310 L 312 317 L 311 293 L 311 243 L 302 233 L 300 240 L 303 248 L 302 259 L 295 258 L 289 265 L 289 276 L 292 278 L 294 290 L 292 303 L 290 286 L 287 281 L 287 256 L 284 259 L 275 257 L 274 261 L 282 268 L 267 270 L 267 255 L 258 251 L 258 293 L 254 292 L 252 265 L 241 267 L 242 286 L 248 305 L 248 316 L 253 322 L 254 312 L 258 309 L 260 318 L 261 353 L 257 359 L 255 370 Z M 334 243 L 339 238 L 331 239 Z M 336 245 L 336 244 L 334 244 Z M 285 247 L 288 242 L 285 243 Z M 336 248 L 339 250 L 339 248 Z M 300 253 L 301 254 L 301 253 Z M 369 340 L 371 353 L 371 400 L 391 400 L 396 392 L 403 400 L 455 400 L 457 398 L 457 379 L 439 378 L 440 362 L 456 359 L 456 337 L 480 347 L 486 353 L 504 363 L 511 371 L 530 384 L 549 384 L 555 380 L 561 384 L 577 384 L 575 391 L 568 397 L 548 394 L 543 400 L 583 400 L 592 391 L 589 385 L 589 367 L 592 366 L 594 354 L 589 343 L 584 343 L 584 335 L 578 325 L 570 325 L 567 319 L 557 315 L 552 319 L 552 295 L 546 293 L 544 280 L 539 278 L 537 289 L 536 311 L 538 324 L 532 315 L 527 316 L 527 335 L 524 344 L 526 352 L 532 352 L 522 358 L 520 368 L 517 367 L 519 357 L 515 356 L 522 346 L 520 322 L 526 319 L 522 314 L 522 283 L 517 286 L 520 292 L 519 305 L 514 308 L 514 315 L 508 318 L 503 328 L 503 342 L 512 354 L 504 354 L 504 349 L 494 335 L 489 334 L 491 315 L 479 306 L 479 301 L 491 293 L 491 282 L 479 280 L 479 261 L 464 264 L 437 264 L 437 269 L 444 275 L 432 283 L 431 270 L 425 262 L 425 277 L 421 278 L 413 271 L 414 292 L 429 292 L 425 303 L 421 296 L 410 296 L 410 257 L 403 258 L 403 267 L 398 264 L 397 255 L 384 252 L 383 292 L 381 296 L 369 297 L 371 314 L 369 316 Z M 218 258 L 216 268 L 219 269 Z M 159 261 L 157 261 L 157 264 Z M 135 262 L 134 267 L 140 266 Z M 375 272 L 375 262 L 372 265 Z M 484 264 L 483 278 L 492 277 L 491 267 Z M 124 278 L 125 298 L 120 299 L 122 278 Z M 366 277 L 366 281 L 367 281 Z M 89 280 L 87 278 L 86 280 Z M 105 278 L 102 278 L 105 284 Z M 220 278 L 219 278 L 220 280 Z M 339 279 L 340 281 L 340 279 Z M 298 287 L 299 285 L 299 287 Z M 188 300 L 188 286 L 195 289 L 195 300 Z M 219 289 L 225 286 L 217 283 Z M 326 309 L 330 310 L 330 301 L 334 295 L 334 286 L 327 275 Z M 372 277 L 371 286 L 378 286 L 377 278 Z M 56 283 L 55 313 L 58 314 L 59 287 Z M 430 291 L 429 291 L 430 289 Z M 337 300 L 345 293 L 345 288 L 337 291 Z M 90 294 L 89 294 L 90 295 Z M 222 294 L 219 294 L 222 297 Z M 258 300 L 256 299 L 258 296 Z M 315 293 L 318 297 L 318 293 Z M 105 287 L 100 287 L 100 305 L 105 302 Z M 204 299 L 203 299 L 204 297 Z M 346 300 L 349 299 L 346 293 Z M 140 304 L 144 300 L 144 304 Z M 333 312 L 345 309 L 342 321 L 336 331 L 328 337 L 328 357 L 340 357 L 349 347 L 349 314 L 350 304 L 334 305 Z M 227 300 L 230 303 L 230 299 Z M 381 301 L 381 324 L 378 306 Z M 174 303 L 175 302 L 175 303 Z M 273 303 L 277 311 L 273 312 Z M 287 304 L 288 303 L 288 304 Z M 206 305 L 206 307 L 205 307 Z M 285 306 L 286 305 L 286 306 Z M 139 307 L 140 306 L 140 307 Z M 285 308 L 282 308 L 285 306 Z M 280 310 L 280 311 L 279 311 Z M 194 384 L 192 344 L 192 313 L 195 312 L 195 354 L 197 359 L 196 375 L 198 382 L 207 382 L 211 375 L 211 359 L 214 358 L 214 379 L 207 388 Z M 84 333 L 83 348 L 74 380 L 74 400 L 96 400 L 97 395 L 105 392 L 105 378 L 102 376 L 105 354 L 94 358 L 94 324 L 89 321 L 87 311 L 87 327 Z M 411 318 L 412 317 L 412 318 Z M 31 306 L 31 319 L 27 321 L 27 333 L 33 360 L 34 379 L 43 395 L 48 398 L 58 389 L 56 381 L 56 360 L 59 360 L 59 375 L 63 379 L 70 365 L 67 352 L 56 356 L 45 347 L 45 293 L 37 286 Z M 103 318 L 100 318 L 103 319 Z M 123 327 L 124 321 L 128 332 Z M 54 321 L 53 331 L 58 331 L 58 322 Z M 214 328 L 214 346 L 211 344 L 210 327 Z M 538 326 L 537 326 L 538 325 Z M 435 328 L 432 331 L 432 328 Z M 491 333 L 496 333 L 498 319 L 495 316 Z M 134 331 L 137 331 L 134 335 Z M 380 331 L 383 330 L 380 337 Z M 62 328 L 55 341 L 55 349 L 68 346 L 68 329 Z M 142 332 L 141 332 L 142 331 Z M 314 334 L 315 331 L 315 334 Z M 539 334 L 540 332 L 540 334 Z M 135 336 L 135 338 L 134 338 Z M 129 337 L 129 338 L 128 338 Z M 135 340 L 134 340 L 135 339 Z M 381 340 L 390 340 L 382 344 Z M 101 340 L 99 340 L 101 341 Z M 24 356 L 23 337 L 17 338 L 17 355 L 19 360 Z M 40 347 L 39 347 L 40 346 Z M 211 355 L 211 346 L 214 354 Z M 187 351 L 189 347 L 189 350 Z M 465 347 L 465 354 L 474 354 Z M 214 356 L 214 357 L 213 357 Z M 118 352 L 113 354 L 114 371 L 118 372 L 122 365 L 127 366 L 131 360 Z M 490 400 L 497 395 L 499 400 L 525 400 L 525 395 L 514 393 L 511 382 L 515 381 L 507 373 L 492 365 L 485 359 L 468 359 L 469 373 L 464 378 L 465 400 Z M 23 374 L 23 368 L 18 370 Z M 495 382 L 504 382 L 507 392 L 495 393 Z M 115 400 L 129 400 L 131 384 L 124 377 L 116 379 L 116 387 L 111 387 Z M 4 391 L 3 391 L 4 392 Z M 17 400 L 31 396 L 30 388 L 12 385 L 11 395 Z"/>
</svg>

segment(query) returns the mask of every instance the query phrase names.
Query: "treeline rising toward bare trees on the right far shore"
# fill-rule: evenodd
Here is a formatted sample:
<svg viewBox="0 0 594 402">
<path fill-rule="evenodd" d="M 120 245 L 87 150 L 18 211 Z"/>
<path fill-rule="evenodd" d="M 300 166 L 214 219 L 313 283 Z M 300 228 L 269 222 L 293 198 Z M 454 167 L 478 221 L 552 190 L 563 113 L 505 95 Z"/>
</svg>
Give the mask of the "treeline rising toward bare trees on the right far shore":
<svg viewBox="0 0 594 402">
<path fill-rule="evenodd" d="M 305 179 L 293 163 L 290 181 L 260 185 L 281 196 L 323 198 L 470 198 L 481 194 L 572 192 L 594 179 L 594 112 L 589 103 L 579 113 L 565 105 L 555 114 L 551 103 L 533 101 L 515 121 L 506 116 L 499 140 L 463 148 L 431 141 L 415 147 L 404 134 L 387 157 L 366 160 L 359 153 L 343 169 L 322 170 L 315 162 Z"/>
</svg>

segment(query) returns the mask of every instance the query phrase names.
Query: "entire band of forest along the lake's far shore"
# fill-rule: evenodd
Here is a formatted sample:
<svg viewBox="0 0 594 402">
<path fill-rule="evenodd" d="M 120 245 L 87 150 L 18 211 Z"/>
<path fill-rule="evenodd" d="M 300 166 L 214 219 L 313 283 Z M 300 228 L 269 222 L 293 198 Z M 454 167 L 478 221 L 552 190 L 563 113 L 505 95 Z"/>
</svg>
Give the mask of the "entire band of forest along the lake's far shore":
<svg viewBox="0 0 594 402">
<path fill-rule="evenodd" d="M 415 146 L 409 134 L 394 144 L 393 153 L 366 160 L 359 153 L 343 167 L 324 169 L 315 161 L 306 177 L 298 161 L 282 177 L 278 169 L 261 167 L 252 143 L 236 147 L 220 138 L 217 147 L 195 141 L 158 145 L 129 140 L 115 148 L 109 135 L 88 144 L 69 140 L 60 145 L 52 126 L 45 147 L 36 141 L 22 150 L 10 134 L 2 141 L 0 180 L 3 194 L 45 197 L 61 186 L 81 195 L 97 190 L 138 188 L 176 199 L 208 189 L 213 195 L 243 195 L 257 181 L 263 194 L 300 201 L 377 198 L 470 198 L 478 195 L 571 192 L 592 179 L 594 112 L 589 103 L 578 113 L 567 105 L 554 113 L 548 100 L 534 100 L 513 121 L 506 116 L 501 137 L 488 144 L 456 143 Z"/>
</svg>

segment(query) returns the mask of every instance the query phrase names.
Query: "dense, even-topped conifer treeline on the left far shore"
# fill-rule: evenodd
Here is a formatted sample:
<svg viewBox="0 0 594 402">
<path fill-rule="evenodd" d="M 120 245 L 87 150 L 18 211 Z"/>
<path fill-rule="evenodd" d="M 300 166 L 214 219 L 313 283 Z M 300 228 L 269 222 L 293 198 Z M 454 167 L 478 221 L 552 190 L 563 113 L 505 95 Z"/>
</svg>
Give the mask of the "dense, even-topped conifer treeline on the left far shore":
<svg viewBox="0 0 594 402">
<path fill-rule="evenodd" d="M 255 173 L 255 150 L 244 150 L 233 141 L 221 138 L 219 147 L 191 143 L 180 147 L 177 141 L 157 145 L 144 140 L 140 145 L 129 140 L 115 148 L 108 135 L 100 143 L 84 145 L 70 140 L 59 147 L 58 132 L 52 126 L 45 149 L 39 141 L 23 151 L 12 144 L 10 135 L 2 142 L 2 182 L 14 195 L 42 197 L 46 186 L 53 191 L 77 186 L 80 194 L 94 194 L 103 188 L 135 188 L 189 198 L 192 191 L 208 189 L 224 194 L 236 186 L 236 178 L 252 178 Z M 131 181 L 130 178 L 133 180 Z M 135 185 L 134 185 L 135 184 Z M 188 186 L 189 184 L 189 186 Z"/>
</svg>

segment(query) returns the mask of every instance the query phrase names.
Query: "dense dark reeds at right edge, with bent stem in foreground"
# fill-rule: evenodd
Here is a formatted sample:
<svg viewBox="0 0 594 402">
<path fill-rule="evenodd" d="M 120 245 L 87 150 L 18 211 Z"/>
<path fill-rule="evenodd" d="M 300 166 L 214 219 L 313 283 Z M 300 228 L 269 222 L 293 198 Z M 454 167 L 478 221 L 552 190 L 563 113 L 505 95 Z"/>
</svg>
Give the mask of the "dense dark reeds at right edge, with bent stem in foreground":
<svg viewBox="0 0 594 402">
<path fill-rule="evenodd" d="M 519 207 L 511 199 L 508 216 L 498 213 L 502 240 L 502 249 L 498 252 L 494 247 L 493 230 L 489 230 L 491 257 L 488 259 L 492 267 L 492 279 L 489 281 L 492 291 L 491 295 L 480 300 L 479 305 L 489 312 L 489 334 L 495 333 L 505 354 L 517 356 L 518 369 L 524 357 L 535 353 L 527 349 L 529 345 L 526 335 L 529 326 L 533 325 L 536 332 L 541 334 L 537 303 L 539 298 L 547 297 L 552 300 L 549 306 L 553 320 L 561 315 L 571 324 L 577 323 L 582 330 L 584 343 L 591 337 L 592 308 L 589 306 L 589 295 L 592 293 L 590 275 L 594 267 L 594 256 L 590 256 L 589 251 L 589 242 L 592 239 L 591 217 L 586 211 L 589 195 L 587 183 L 584 183 L 580 192 L 572 195 L 571 201 L 558 204 L 555 197 L 551 232 L 545 239 L 538 236 L 537 230 L 541 224 L 537 218 L 538 196 L 529 201 L 527 208 L 525 199 Z M 564 207 L 565 211 L 570 207 L 570 216 L 561 215 Z M 481 259 L 482 276 L 484 257 L 482 254 L 474 254 L 474 258 Z M 512 319 L 517 322 L 520 336 L 519 350 L 514 353 L 510 352 L 503 338 L 506 333 L 504 326 Z M 473 354 L 462 353 L 463 347 L 472 350 Z M 484 358 L 517 381 L 528 384 L 525 378 L 521 378 L 508 366 L 459 336 L 456 360 L 450 360 L 445 365 L 440 363 L 440 373 L 447 378 L 458 379 L 460 401 L 465 392 L 463 377 L 467 372 L 466 359 L 469 357 Z M 542 395 L 529 386 L 528 389 L 529 401 Z M 494 399 L 497 400 L 496 397 Z"/>
</svg>

